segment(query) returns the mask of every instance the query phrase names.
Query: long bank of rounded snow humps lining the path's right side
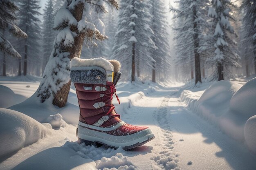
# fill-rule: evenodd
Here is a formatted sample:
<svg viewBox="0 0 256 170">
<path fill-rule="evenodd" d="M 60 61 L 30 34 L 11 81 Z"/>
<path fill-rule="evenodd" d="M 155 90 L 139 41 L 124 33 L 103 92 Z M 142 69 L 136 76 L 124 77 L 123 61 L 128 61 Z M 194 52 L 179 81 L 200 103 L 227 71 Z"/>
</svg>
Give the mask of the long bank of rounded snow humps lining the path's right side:
<svg viewBox="0 0 256 170">
<path fill-rule="evenodd" d="M 255 152 L 256 78 L 243 86 L 237 82 L 219 81 L 209 86 L 200 98 L 198 93 L 202 92 L 183 91 L 180 100 L 233 139 L 246 141 L 249 149 Z"/>
</svg>

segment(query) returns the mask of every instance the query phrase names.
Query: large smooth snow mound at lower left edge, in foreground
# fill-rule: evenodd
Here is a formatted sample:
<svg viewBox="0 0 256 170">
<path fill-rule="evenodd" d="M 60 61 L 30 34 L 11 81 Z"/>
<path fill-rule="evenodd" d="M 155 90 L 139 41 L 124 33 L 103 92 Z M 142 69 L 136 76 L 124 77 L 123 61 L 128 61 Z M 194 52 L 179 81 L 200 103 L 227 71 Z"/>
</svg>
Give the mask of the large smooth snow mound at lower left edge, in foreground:
<svg viewBox="0 0 256 170">
<path fill-rule="evenodd" d="M 23 113 L 0 108 L 0 161 L 34 144 L 50 131 Z"/>
</svg>

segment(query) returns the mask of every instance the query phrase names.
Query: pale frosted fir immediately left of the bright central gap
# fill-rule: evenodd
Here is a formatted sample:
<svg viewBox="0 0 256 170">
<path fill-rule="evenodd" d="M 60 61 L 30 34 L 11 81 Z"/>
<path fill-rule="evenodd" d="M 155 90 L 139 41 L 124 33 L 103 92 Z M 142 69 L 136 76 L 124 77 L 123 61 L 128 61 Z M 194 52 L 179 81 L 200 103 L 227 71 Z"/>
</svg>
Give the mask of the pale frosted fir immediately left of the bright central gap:
<svg viewBox="0 0 256 170">
<path fill-rule="evenodd" d="M 151 24 L 150 28 L 154 32 L 151 39 L 155 42 L 157 48 L 153 49 L 152 57 L 155 60 L 153 62 L 152 69 L 152 81 L 156 82 L 156 72 L 166 74 L 170 69 L 170 53 L 168 44 L 168 23 L 166 22 L 166 8 L 162 0 L 150 0 L 151 4 Z"/>
</svg>

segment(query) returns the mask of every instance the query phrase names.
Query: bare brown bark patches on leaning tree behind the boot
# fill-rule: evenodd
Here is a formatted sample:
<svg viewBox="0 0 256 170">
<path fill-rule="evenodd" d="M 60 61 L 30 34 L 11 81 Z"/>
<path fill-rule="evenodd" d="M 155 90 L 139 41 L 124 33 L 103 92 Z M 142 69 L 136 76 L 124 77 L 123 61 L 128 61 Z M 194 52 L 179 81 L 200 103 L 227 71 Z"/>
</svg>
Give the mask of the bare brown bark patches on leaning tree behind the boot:
<svg viewBox="0 0 256 170">
<path fill-rule="evenodd" d="M 71 11 L 72 15 L 74 16 L 74 18 L 76 18 L 77 21 L 80 21 L 82 19 L 83 8 L 84 8 L 84 3 L 79 2 L 79 4 L 77 4 L 74 7 L 74 10 Z M 72 26 L 70 28 L 70 31 L 77 32 L 77 27 Z M 79 33 L 79 35 L 74 38 L 74 44 L 71 47 L 63 49 L 63 51 L 70 53 L 69 55 L 70 60 L 72 60 L 72 58 L 74 57 L 80 57 L 84 38 L 85 38 L 85 33 Z M 56 94 L 53 94 L 54 95 L 54 99 L 52 100 L 53 105 L 58 107 L 64 107 L 66 105 L 68 93 L 70 91 L 70 85 L 71 85 L 71 81 L 69 81 L 67 84 L 64 84 Z"/>
</svg>

